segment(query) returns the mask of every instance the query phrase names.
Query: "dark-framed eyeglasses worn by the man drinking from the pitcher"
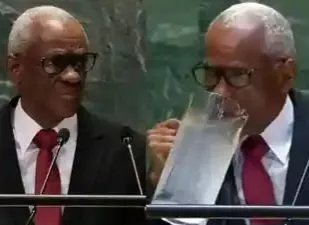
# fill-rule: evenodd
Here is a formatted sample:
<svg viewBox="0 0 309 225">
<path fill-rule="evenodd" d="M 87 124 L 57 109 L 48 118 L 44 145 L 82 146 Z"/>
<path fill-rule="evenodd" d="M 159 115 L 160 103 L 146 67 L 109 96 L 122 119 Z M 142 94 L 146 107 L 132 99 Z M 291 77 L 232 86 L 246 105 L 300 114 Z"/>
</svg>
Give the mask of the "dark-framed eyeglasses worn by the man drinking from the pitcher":
<svg viewBox="0 0 309 225">
<path fill-rule="evenodd" d="M 205 61 L 197 63 L 192 68 L 194 80 L 206 90 L 213 90 L 221 78 L 236 88 L 248 86 L 253 72 L 254 69 L 210 66 Z"/>
</svg>

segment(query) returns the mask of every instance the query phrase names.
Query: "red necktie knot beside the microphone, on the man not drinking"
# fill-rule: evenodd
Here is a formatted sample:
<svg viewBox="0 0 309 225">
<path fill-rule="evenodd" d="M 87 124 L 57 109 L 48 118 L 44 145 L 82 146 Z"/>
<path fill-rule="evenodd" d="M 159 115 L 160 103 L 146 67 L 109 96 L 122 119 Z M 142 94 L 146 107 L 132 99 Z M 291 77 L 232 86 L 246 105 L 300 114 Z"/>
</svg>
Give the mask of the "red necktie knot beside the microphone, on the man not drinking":
<svg viewBox="0 0 309 225">
<path fill-rule="evenodd" d="M 35 135 L 33 141 L 38 148 L 52 151 L 58 144 L 57 133 L 53 129 L 42 129 Z"/>
</svg>

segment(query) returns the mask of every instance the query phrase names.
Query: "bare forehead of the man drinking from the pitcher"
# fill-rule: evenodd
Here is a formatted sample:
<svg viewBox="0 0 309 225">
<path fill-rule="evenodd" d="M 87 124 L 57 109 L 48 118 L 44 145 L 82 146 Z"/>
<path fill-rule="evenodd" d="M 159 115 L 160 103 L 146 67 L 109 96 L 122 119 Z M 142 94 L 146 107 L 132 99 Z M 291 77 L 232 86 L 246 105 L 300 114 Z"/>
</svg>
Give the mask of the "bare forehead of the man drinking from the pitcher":
<svg viewBox="0 0 309 225">
<path fill-rule="evenodd" d="M 261 23 L 242 21 L 226 26 L 215 22 L 205 35 L 206 57 L 214 61 L 253 63 L 263 52 L 264 37 Z"/>
</svg>

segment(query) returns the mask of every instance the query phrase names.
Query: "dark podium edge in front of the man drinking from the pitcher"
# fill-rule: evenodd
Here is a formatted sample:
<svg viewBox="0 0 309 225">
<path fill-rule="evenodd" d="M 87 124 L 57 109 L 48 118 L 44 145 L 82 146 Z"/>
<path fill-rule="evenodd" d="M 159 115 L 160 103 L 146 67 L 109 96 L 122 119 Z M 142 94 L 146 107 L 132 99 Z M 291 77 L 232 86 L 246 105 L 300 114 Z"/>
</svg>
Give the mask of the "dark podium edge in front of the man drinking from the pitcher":
<svg viewBox="0 0 309 225">
<path fill-rule="evenodd" d="M 159 205 L 146 206 L 148 218 L 309 219 L 309 206 Z"/>
</svg>

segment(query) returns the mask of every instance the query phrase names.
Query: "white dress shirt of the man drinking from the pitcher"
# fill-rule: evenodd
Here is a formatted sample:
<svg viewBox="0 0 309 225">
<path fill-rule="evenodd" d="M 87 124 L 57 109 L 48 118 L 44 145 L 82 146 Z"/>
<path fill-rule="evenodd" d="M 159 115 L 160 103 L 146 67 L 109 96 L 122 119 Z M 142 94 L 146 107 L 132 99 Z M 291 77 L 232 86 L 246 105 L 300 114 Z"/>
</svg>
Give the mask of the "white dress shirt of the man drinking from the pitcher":
<svg viewBox="0 0 309 225">
<path fill-rule="evenodd" d="M 289 165 L 289 152 L 292 144 L 294 124 L 294 109 L 290 97 L 286 98 L 285 104 L 279 115 L 261 133 L 270 150 L 262 158 L 265 170 L 268 172 L 273 184 L 276 202 L 281 205 L 284 197 L 285 180 Z M 233 158 L 234 177 L 237 194 L 241 204 L 245 204 L 242 188 L 242 165 L 243 155 L 238 149 Z M 181 219 L 179 222 L 173 219 L 164 219 L 173 225 L 205 225 L 205 219 Z M 249 224 L 249 220 L 246 220 Z"/>
</svg>

